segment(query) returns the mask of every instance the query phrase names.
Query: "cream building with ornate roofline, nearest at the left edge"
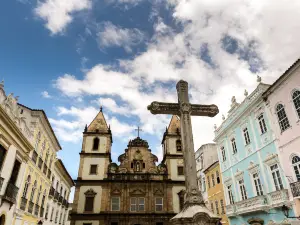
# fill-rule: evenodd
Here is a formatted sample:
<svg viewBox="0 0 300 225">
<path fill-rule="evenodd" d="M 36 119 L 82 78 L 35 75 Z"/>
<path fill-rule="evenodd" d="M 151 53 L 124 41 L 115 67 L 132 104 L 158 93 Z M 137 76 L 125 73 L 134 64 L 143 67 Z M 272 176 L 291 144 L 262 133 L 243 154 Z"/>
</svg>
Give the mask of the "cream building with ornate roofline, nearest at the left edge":
<svg viewBox="0 0 300 225">
<path fill-rule="evenodd" d="M 18 98 L 0 84 L 0 224 L 13 224 L 28 154 L 33 150 L 29 126 L 20 116 Z"/>
</svg>

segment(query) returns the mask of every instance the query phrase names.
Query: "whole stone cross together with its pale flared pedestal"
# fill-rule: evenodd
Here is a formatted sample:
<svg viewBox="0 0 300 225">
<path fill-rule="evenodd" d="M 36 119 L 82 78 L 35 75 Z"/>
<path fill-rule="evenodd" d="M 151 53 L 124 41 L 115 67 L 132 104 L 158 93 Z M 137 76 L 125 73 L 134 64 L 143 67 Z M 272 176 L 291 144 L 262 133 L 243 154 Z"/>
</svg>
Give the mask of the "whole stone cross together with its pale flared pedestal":
<svg viewBox="0 0 300 225">
<path fill-rule="evenodd" d="M 152 102 L 148 106 L 148 110 L 152 114 L 180 116 L 186 195 L 183 209 L 171 219 L 171 222 L 174 225 L 216 225 L 220 218 L 205 206 L 197 185 L 191 116 L 214 117 L 219 110 L 216 105 L 190 104 L 188 83 L 186 81 L 180 80 L 176 85 L 176 89 L 178 103 Z"/>
</svg>

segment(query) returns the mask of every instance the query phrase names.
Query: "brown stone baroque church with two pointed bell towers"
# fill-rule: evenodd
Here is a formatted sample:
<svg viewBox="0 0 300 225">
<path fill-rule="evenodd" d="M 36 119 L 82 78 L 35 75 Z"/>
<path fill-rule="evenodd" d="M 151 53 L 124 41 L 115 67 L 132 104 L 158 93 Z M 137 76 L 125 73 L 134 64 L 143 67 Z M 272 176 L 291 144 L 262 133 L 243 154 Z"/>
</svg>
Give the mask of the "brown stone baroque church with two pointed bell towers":
<svg viewBox="0 0 300 225">
<path fill-rule="evenodd" d="M 169 225 L 185 193 L 179 118 L 171 118 L 162 136 L 161 163 L 139 136 L 118 163 L 112 144 L 101 109 L 83 132 L 71 225 Z"/>
</svg>

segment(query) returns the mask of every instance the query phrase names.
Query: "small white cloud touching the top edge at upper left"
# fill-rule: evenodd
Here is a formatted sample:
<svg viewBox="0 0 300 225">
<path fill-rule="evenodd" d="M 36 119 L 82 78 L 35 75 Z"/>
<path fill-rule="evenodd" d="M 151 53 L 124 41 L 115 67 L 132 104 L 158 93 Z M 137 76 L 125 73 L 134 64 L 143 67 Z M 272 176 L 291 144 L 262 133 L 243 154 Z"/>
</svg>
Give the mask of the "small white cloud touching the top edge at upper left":
<svg viewBox="0 0 300 225">
<path fill-rule="evenodd" d="M 73 20 L 74 12 L 89 9 L 91 0 L 45 0 L 39 1 L 35 14 L 46 21 L 52 34 L 62 33 Z"/>
</svg>

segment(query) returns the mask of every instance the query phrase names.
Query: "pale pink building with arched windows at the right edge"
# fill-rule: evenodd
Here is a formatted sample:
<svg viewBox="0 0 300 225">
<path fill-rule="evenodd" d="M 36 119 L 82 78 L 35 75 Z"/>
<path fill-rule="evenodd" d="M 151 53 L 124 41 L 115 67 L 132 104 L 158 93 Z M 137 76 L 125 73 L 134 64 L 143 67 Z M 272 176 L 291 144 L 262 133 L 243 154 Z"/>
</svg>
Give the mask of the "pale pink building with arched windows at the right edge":
<svg viewBox="0 0 300 225">
<path fill-rule="evenodd" d="M 290 182 L 294 211 L 300 216 L 300 59 L 263 94 L 269 108 L 279 160 Z"/>
</svg>

